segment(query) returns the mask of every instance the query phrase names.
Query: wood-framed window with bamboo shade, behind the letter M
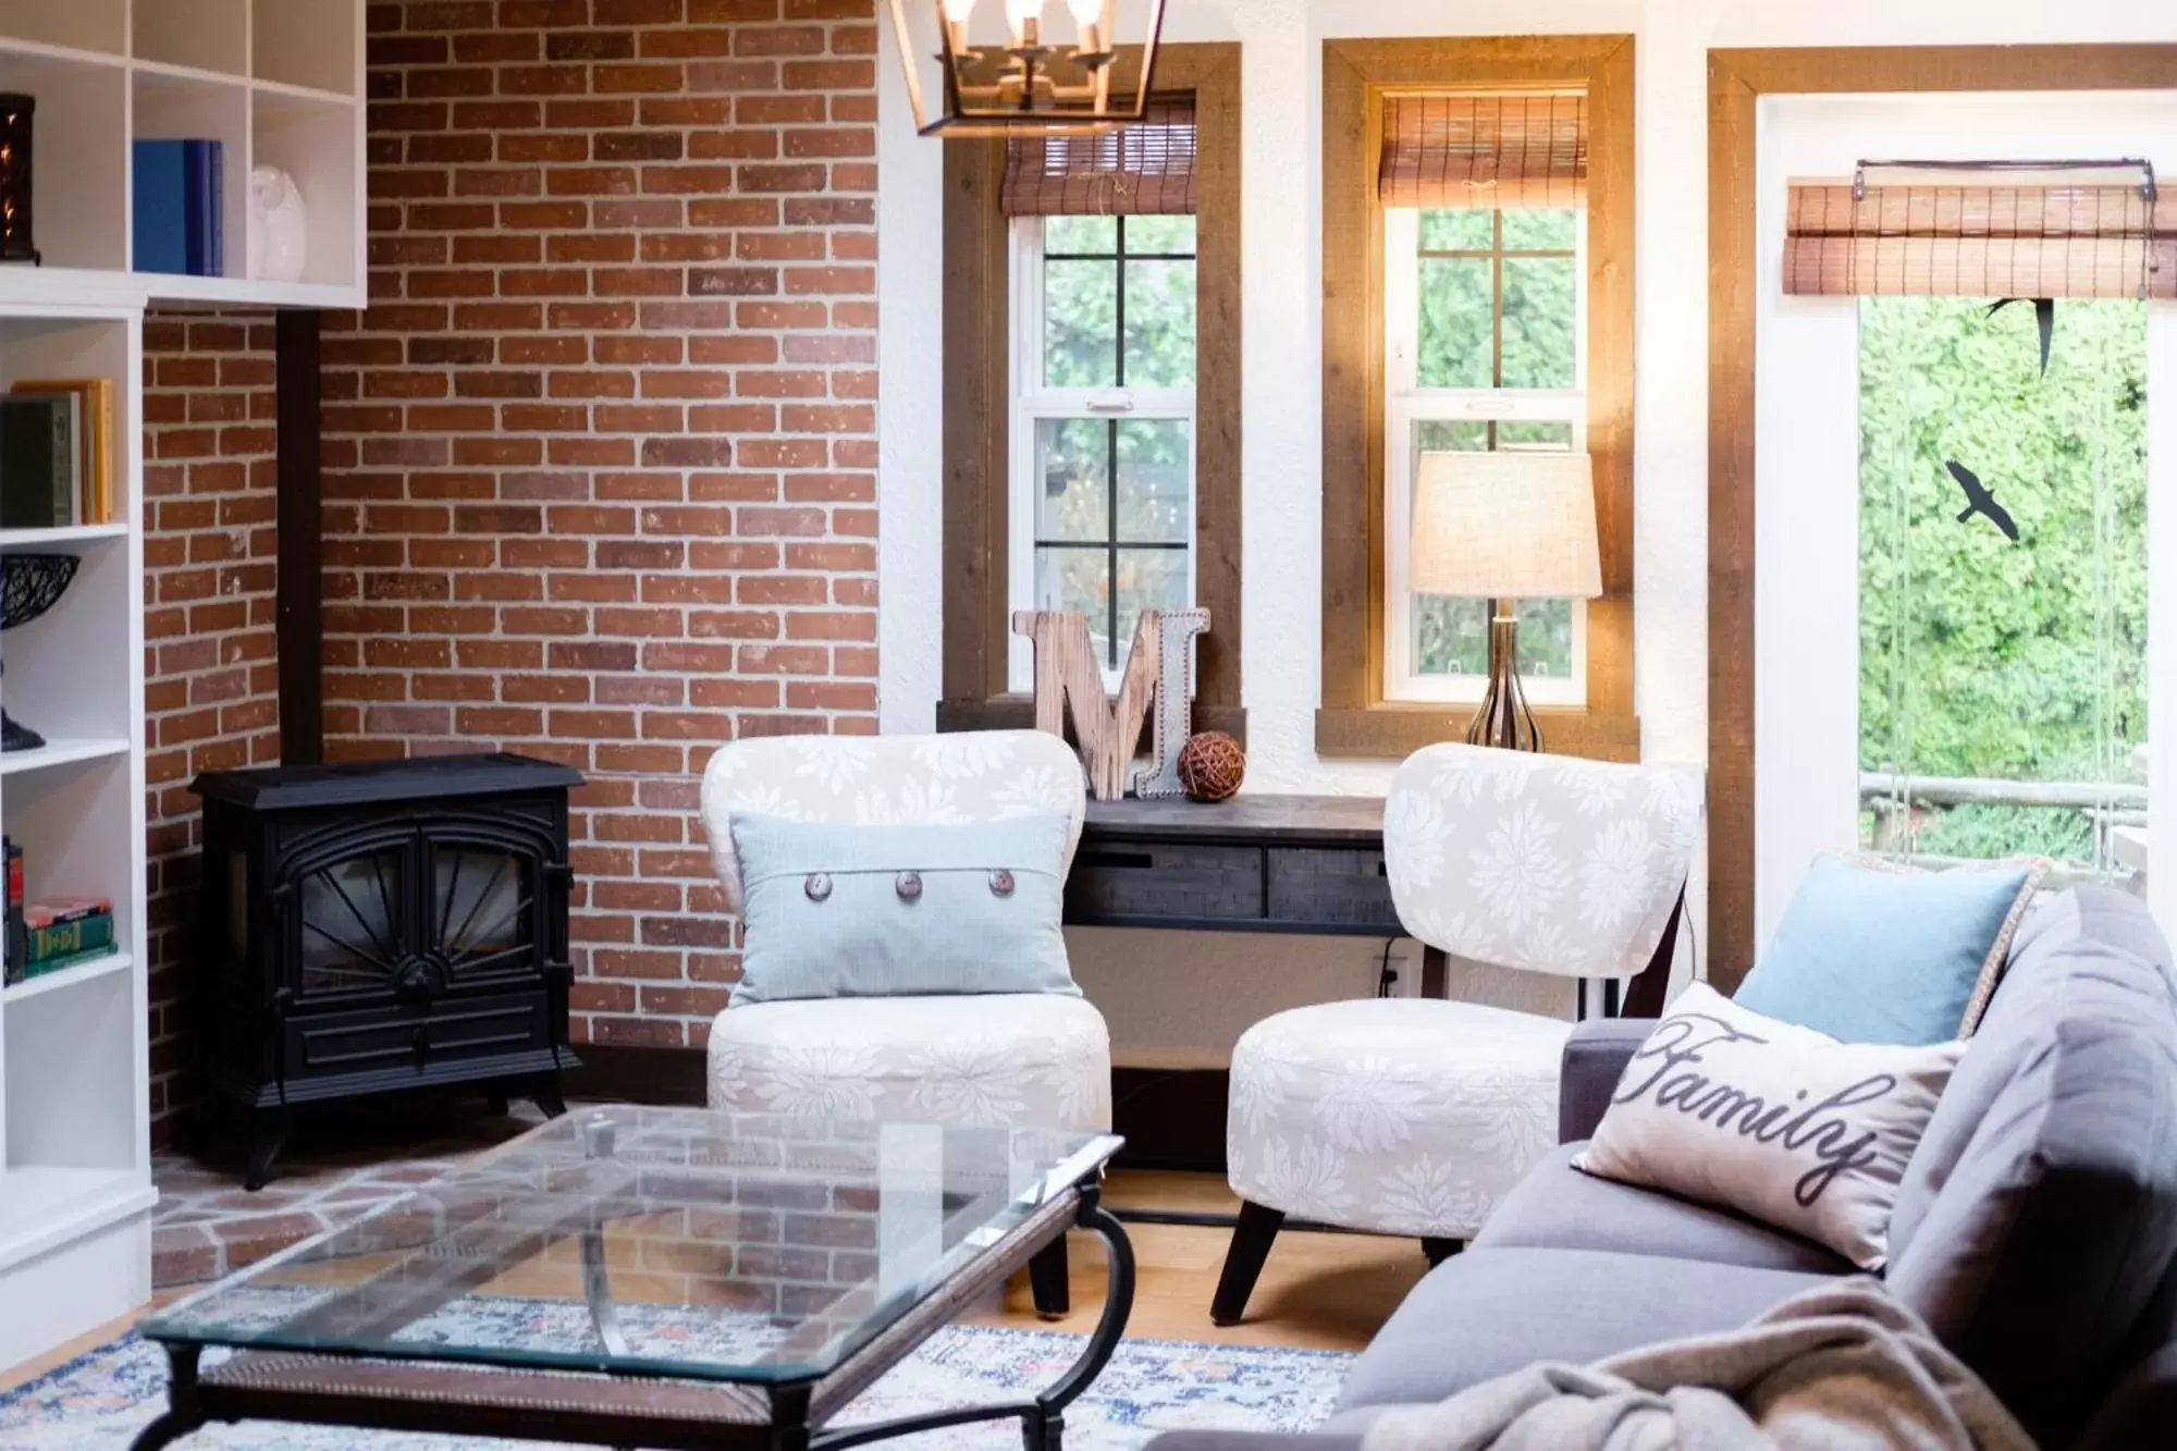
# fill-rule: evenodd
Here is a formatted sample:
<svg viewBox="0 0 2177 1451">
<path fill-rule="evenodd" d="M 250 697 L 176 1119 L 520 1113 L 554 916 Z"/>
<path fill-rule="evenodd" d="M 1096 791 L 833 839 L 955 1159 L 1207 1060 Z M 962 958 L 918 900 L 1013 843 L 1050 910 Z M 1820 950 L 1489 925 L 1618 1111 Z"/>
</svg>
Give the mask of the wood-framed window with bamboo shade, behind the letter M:
<svg viewBox="0 0 2177 1451">
<path fill-rule="evenodd" d="M 1034 723 L 1012 614 L 1049 601 L 1106 667 L 1141 608 L 1208 610 L 1195 723 L 1247 734 L 1239 96 L 1237 44 L 1167 44 L 1136 126 L 945 144 L 938 730 Z"/>
</svg>

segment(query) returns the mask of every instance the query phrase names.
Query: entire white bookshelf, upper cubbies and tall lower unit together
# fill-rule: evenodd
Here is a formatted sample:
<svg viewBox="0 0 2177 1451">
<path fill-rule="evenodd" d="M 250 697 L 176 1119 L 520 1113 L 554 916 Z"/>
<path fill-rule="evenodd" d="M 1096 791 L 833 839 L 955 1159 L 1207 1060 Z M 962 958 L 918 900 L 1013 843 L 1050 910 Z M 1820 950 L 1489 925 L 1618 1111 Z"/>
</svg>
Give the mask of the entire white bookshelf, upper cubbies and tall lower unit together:
<svg viewBox="0 0 2177 1451">
<path fill-rule="evenodd" d="M 113 898 L 120 952 L 0 987 L 0 1370 L 150 1298 L 144 843 L 144 309 L 364 305 L 364 0 L 0 0 L 0 89 L 37 98 L 35 242 L 0 266 L 0 392 L 109 377 L 115 519 L 0 529 L 81 560 L 0 636 L 0 754 L 28 895 Z M 131 142 L 224 142 L 226 275 L 131 268 Z M 303 281 L 246 277 L 255 163 L 309 205 Z"/>
</svg>

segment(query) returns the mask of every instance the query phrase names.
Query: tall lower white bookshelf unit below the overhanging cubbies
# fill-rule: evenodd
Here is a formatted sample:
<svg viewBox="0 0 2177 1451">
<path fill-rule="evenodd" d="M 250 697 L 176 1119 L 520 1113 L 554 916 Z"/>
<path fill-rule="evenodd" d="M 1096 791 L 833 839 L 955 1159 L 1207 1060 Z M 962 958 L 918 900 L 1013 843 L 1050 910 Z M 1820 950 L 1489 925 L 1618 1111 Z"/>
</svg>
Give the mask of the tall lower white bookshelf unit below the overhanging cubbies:
<svg viewBox="0 0 2177 1451">
<path fill-rule="evenodd" d="M 144 312 L 0 303 L 0 392 L 111 377 L 115 521 L 0 529 L 0 553 L 70 553 L 41 619 L 0 634 L 0 702 L 46 736 L 0 754 L 0 828 L 30 898 L 109 895 L 120 952 L 0 987 L 0 1366 L 150 1296 L 144 983 Z"/>
</svg>

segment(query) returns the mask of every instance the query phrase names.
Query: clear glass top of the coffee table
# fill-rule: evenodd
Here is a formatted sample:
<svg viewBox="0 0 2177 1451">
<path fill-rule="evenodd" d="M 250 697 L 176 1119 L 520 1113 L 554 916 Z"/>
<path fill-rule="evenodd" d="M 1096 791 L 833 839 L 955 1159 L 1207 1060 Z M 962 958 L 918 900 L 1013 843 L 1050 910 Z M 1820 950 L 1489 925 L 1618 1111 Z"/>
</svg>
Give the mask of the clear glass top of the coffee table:
<svg viewBox="0 0 2177 1451">
<path fill-rule="evenodd" d="M 583 1109 L 142 1325 L 165 1342 L 829 1375 L 1119 1139 Z"/>
</svg>

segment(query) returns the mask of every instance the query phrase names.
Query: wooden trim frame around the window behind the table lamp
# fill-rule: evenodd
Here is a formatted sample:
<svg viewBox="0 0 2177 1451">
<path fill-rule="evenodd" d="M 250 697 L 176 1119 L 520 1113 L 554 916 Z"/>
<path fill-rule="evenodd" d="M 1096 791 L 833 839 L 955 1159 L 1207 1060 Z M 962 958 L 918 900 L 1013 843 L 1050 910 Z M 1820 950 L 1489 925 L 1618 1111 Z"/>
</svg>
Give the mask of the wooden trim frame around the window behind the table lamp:
<svg viewBox="0 0 2177 1451">
<path fill-rule="evenodd" d="M 1587 704 L 1537 708 L 1552 752 L 1635 760 L 1633 715 L 1633 37 L 1522 35 L 1324 44 L 1324 702 L 1321 756 L 1406 756 L 1465 739 L 1459 706 L 1385 699 L 1382 96 L 1587 89 L 1587 451 L 1602 599 L 1587 603 Z"/>
</svg>

